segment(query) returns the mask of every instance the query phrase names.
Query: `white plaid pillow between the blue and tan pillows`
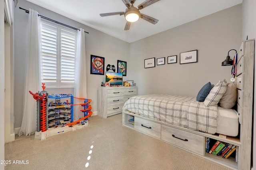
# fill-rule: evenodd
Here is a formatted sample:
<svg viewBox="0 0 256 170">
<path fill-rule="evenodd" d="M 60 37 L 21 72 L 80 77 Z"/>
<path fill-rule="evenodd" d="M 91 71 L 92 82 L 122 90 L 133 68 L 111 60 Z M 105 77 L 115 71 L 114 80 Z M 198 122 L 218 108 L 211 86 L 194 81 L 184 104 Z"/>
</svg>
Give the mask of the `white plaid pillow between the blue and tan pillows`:
<svg viewBox="0 0 256 170">
<path fill-rule="evenodd" d="M 220 102 L 220 99 L 227 90 L 227 85 L 224 81 L 219 81 L 216 86 L 212 88 L 208 96 L 204 100 L 204 106 L 213 106 Z"/>
</svg>

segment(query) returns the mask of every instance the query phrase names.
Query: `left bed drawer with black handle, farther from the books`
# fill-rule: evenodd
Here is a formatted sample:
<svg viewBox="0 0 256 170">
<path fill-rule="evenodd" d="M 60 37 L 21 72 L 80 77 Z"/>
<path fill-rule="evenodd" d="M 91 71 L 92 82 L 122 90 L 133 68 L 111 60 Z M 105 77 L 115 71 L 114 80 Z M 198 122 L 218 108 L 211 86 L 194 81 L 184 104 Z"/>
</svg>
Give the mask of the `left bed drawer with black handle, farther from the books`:
<svg viewBox="0 0 256 170">
<path fill-rule="evenodd" d="M 161 139 L 161 124 L 159 123 L 148 121 L 140 117 L 134 117 L 134 129 Z"/>
</svg>

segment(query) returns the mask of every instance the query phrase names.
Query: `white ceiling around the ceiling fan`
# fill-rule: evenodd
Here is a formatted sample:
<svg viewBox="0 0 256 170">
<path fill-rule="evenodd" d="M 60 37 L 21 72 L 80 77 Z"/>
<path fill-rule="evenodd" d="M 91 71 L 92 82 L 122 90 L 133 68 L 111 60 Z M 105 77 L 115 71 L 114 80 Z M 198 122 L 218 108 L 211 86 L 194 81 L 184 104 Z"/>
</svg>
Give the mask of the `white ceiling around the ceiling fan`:
<svg viewBox="0 0 256 170">
<path fill-rule="evenodd" d="M 142 14 L 158 19 L 158 23 L 154 25 L 139 19 L 131 24 L 130 30 L 124 31 L 126 20 L 123 15 L 107 17 L 99 15 L 100 13 L 108 12 L 124 12 L 126 6 L 122 0 L 27 1 L 128 43 L 242 3 L 242 0 L 160 0 L 140 10 Z M 144 0 L 136 0 L 134 6 L 137 8 L 142 2 Z M 50 18 L 47 14 L 41 15 Z M 54 20 L 54 18 L 51 19 Z"/>
</svg>

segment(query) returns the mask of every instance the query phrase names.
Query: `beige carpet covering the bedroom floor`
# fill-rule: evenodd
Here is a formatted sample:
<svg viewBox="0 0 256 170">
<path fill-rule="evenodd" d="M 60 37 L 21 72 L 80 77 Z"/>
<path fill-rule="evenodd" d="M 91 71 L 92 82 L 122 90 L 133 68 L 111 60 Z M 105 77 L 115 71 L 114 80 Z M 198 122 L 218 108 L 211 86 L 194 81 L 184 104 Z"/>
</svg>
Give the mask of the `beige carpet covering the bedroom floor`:
<svg viewBox="0 0 256 170">
<path fill-rule="evenodd" d="M 5 160 L 5 170 L 228 170 L 122 126 L 122 114 L 92 116 L 88 127 L 44 141 L 16 136 L 5 144 Z"/>
</svg>

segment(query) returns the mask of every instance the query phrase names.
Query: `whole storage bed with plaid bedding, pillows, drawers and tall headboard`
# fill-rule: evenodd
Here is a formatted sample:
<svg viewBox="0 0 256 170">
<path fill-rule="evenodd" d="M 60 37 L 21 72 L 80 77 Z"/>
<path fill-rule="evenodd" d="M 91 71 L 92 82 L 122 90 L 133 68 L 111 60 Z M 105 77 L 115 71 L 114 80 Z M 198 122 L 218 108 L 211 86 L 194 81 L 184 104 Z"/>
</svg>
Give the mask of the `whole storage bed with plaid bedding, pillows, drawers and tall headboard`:
<svg viewBox="0 0 256 170">
<path fill-rule="evenodd" d="M 202 86 L 196 97 L 134 96 L 122 108 L 122 124 L 231 169 L 250 169 L 254 95 L 254 42 L 238 51 L 234 82 Z M 205 152 L 208 139 L 236 146 L 232 158 Z"/>
</svg>

